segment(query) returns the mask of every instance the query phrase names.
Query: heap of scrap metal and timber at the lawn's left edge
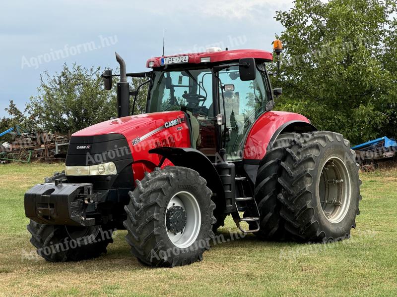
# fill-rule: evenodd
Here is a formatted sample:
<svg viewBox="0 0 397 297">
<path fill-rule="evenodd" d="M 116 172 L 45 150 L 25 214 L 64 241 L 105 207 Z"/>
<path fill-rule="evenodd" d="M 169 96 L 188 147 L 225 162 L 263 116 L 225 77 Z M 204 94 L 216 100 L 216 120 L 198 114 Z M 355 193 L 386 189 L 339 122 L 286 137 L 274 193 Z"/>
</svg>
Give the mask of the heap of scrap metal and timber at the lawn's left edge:
<svg viewBox="0 0 397 297">
<path fill-rule="evenodd" d="M 7 134 L 11 135 L 11 140 L 1 142 L 1 138 Z M 0 162 L 62 161 L 66 156 L 69 138 L 57 132 L 28 132 L 15 126 L 0 133 Z"/>
</svg>

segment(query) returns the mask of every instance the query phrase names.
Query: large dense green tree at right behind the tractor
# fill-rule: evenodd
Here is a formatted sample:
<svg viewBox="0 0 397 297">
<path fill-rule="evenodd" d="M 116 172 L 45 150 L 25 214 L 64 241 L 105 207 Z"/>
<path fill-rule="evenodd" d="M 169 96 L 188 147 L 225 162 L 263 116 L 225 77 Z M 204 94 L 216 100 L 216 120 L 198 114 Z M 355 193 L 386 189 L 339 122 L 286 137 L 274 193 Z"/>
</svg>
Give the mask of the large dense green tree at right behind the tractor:
<svg viewBox="0 0 397 297">
<path fill-rule="evenodd" d="M 296 0 L 277 11 L 285 54 L 277 108 L 308 116 L 352 143 L 396 137 L 396 3 Z"/>
</svg>

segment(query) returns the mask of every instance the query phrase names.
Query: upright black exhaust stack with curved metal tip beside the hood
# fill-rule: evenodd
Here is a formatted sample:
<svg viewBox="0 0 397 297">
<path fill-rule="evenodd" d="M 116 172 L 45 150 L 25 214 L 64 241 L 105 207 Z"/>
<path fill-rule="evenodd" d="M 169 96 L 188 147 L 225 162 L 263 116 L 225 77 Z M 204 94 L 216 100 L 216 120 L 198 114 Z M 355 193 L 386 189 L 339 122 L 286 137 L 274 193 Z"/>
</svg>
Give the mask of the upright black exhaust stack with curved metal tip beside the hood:
<svg viewBox="0 0 397 297">
<path fill-rule="evenodd" d="M 130 115 L 130 84 L 127 82 L 126 62 L 116 52 L 116 60 L 120 64 L 120 82 L 117 83 L 117 116 Z"/>
</svg>

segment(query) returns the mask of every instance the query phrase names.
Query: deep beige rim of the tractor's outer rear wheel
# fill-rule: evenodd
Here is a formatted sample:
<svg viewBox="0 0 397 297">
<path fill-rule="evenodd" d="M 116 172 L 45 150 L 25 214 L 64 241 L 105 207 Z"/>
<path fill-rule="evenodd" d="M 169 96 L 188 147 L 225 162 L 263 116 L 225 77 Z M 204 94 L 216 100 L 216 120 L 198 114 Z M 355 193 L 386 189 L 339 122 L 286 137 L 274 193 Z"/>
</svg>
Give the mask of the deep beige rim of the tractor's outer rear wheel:
<svg viewBox="0 0 397 297">
<path fill-rule="evenodd" d="M 350 175 L 346 164 L 330 157 L 324 164 L 319 181 L 319 199 L 323 215 L 333 224 L 344 219 L 351 199 Z"/>
</svg>

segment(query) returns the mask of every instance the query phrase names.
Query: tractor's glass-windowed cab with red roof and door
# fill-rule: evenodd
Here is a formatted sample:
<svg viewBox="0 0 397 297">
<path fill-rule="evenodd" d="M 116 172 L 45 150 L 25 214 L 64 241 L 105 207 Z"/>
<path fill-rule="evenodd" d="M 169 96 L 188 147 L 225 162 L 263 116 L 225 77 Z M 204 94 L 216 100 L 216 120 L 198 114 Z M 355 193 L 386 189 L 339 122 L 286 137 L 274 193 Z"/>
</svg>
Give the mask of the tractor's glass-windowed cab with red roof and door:
<svg viewBox="0 0 397 297">
<path fill-rule="evenodd" d="M 269 61 L 272 55 L 266 51 L 219 48 L 151 58 L 146 111 L 186 112 L 193 148 L 211 159 L 225 148 L 229 161 L 241 160 L 251 125 L 273 106 L 265 67 Z"/>
</svg>

